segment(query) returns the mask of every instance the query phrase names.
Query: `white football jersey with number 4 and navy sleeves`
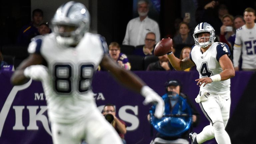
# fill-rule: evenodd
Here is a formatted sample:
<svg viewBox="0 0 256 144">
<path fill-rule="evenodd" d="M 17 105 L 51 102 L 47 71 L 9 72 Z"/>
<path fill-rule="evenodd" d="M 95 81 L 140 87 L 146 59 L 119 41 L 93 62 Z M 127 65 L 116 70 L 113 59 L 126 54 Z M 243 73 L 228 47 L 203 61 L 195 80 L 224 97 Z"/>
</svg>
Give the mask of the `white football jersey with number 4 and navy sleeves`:
<svg viewBox="0 0 256 144">
<path fill-rule="evenodd" d="M 210 77 L 220 74 L 223 70 L 219 58 L 227 54 L 230 56 L 229 47 L 225 43 L 215 42 L 206 52 L 202 53 L 201 47 L 194 45 L 190 53 L 190 59 L 196 64 L 199 77 Z M 230 90 L 230 79 L 201 85 L 200 91 L 208 91 L 213 94 L 225 94 Z"/>
</svg>

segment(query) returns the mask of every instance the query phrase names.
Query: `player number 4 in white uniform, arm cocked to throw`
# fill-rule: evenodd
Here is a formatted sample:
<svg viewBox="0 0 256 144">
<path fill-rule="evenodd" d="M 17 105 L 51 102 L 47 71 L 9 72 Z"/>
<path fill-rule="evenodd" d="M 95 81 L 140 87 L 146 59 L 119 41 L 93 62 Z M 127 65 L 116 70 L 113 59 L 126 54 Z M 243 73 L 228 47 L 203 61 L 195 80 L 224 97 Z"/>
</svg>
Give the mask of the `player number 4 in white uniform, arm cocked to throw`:
<svg viewBox="0 0 256 144">
<path fill-rule="evenodd" d="M 195 45 L 190 56 L 180 60 L 172 53 L 168 59 L 176 70 L 185 70 L 196 65 L 200 92 L 195 99 L 199 103 L 210 125 L 204 127 L 199 134 L 190 133 L 192 144 L 201 144 L 215 137 L 218 144 L 230 144 L 225 131 L 230 109 L 230 78 L 235 70 L 229 59 L 229 47 L 225 43 L 214 42 L 215 31 L 208 23 L 200 23 L 193 34 Z"/>
</svg>

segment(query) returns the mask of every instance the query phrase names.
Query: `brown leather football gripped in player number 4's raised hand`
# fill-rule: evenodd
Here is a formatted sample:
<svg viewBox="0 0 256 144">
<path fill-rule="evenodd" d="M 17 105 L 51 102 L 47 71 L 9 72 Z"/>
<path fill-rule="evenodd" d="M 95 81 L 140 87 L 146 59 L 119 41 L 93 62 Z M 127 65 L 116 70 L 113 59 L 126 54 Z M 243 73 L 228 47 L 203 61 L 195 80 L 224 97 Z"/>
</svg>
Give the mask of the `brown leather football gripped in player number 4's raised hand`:
<svg viewBox="0 0 256 144">
<path fill-rule="evenodd" d="M 162 39 L 156 44 L 155 50 L 154 50 L 154 55 L 155 56 L 163 56 L 171 51 L 171 47 L 172 47 L 172 39 L 171 38 Z"/>
</svg>

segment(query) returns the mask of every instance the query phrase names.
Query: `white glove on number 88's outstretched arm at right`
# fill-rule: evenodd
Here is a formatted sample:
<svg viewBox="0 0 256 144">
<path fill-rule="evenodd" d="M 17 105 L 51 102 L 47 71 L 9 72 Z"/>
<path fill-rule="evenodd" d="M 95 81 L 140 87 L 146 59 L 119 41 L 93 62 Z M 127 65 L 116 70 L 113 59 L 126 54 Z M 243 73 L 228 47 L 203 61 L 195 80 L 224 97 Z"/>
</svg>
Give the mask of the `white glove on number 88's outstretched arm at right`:
<svg viewBox="0 0 256 144">
<path fill-rule="evenodd" d="M 155 117 L 160 119 L 164 114 L 164 100 L 149 86 L 143 86 L 140 91 L 141 95 L 145 97 L 143 104 L 149 104 L 151 102 L 156 103 Z"/>
</svg>

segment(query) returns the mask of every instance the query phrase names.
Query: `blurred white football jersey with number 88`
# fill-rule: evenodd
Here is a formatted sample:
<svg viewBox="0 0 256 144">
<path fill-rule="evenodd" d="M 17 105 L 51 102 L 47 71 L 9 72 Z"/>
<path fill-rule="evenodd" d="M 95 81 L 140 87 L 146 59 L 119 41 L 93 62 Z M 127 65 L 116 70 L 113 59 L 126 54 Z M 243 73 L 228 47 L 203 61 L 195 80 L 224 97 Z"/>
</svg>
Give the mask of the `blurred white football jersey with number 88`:
<svg viewBox="0 0 256 144">
<path fill-rule="evenodd" d="M 48 64 L 50 79 L 43 88 L 50 120 L 71 123 L 89 113 L 86 103 L 94 102 L 91 82 L 107 52 L 105 39 L 86 33 L 76 47 L 65 47 L 51 33 L 32 41 L 28 51 L 41 54 Z"/>
</svg>

